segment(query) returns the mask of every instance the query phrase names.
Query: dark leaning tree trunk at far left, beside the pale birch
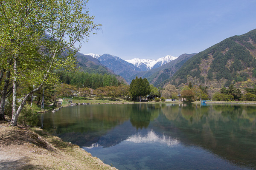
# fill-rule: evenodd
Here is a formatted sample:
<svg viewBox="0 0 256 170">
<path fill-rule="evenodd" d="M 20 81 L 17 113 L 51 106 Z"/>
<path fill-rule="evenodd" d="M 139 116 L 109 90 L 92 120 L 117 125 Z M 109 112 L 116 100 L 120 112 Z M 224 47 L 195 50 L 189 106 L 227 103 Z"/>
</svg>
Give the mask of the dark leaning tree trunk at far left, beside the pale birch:
<svg viewBox="0 0 256 170">
<path fill-rule="evenodd" d="M 6 79 L 4 81 L 3 91 L 1 93 L 1 101 L 0 101 L 0 120 L 5 120 L 4 118 L 4 107 L 5 107 L 5 100 L 6 100 L 6 94 L 9 86 L 11 72 L 6 72 Z"/>
</svg>

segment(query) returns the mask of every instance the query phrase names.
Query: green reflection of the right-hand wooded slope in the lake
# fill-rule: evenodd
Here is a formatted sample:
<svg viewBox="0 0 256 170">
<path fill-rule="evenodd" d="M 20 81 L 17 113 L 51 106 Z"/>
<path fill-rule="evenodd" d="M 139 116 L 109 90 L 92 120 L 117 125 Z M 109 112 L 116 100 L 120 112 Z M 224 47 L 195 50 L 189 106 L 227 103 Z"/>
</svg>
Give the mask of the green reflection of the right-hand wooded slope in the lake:
<svg viewBox="0 0 256 170">
<path fill-rule="evenodd" d="M 170 105 L 163 108 L 169 122 L 157 120 L 166 134 L 184 144 L 206 148 L 236 164 L 256 167 L 255 111 L 254 105 Z"/>
</svg>

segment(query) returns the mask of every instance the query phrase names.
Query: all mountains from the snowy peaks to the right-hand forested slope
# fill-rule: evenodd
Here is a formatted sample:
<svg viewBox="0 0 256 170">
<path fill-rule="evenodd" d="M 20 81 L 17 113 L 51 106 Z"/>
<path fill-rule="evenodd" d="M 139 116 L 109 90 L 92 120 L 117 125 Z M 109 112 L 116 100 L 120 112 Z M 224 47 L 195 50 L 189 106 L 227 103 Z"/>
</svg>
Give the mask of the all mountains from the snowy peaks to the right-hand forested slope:
<svg viewBox="0 0 256 170">
<path fill-rule="evenodd" d="M 227 38 L 198 54 L 182 54 L 153 59 L 129 59 L 103 54 L 87 54 L 122 76 L 128 83 L 136 76 L 147 78 L 156 87 L 168 83 L 182 86 L 192 82 L 221 88 L 252 88 L 256 84 L 256 29 Z M 96 61 L 95 61 L 96 62 Z"/>
</svg>

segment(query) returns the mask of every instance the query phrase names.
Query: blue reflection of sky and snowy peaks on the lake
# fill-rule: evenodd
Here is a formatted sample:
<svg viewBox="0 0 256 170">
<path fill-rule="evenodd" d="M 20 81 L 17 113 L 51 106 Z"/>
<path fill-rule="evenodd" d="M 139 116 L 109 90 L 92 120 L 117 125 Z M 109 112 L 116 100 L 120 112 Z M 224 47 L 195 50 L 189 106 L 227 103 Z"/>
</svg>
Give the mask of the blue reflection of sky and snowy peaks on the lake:
<svg viewBox="0 0 256 170">
<path fill-rule="evenodd" d="M 119 170 L 247 170 L 204 148 L 184 145 L 153 130 L 139 131 L 110 147 L 93 143 L 83 149 Z"/>
</svg>

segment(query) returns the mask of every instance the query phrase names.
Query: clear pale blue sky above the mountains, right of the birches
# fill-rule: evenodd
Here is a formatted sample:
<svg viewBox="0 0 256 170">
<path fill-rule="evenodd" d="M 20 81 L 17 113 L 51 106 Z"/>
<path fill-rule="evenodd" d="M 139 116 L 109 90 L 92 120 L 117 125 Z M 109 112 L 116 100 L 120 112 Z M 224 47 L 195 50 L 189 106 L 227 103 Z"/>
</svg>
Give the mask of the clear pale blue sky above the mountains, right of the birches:
<svg viewBox="0 0 256 170">
<path fill-rule="evenodd" d="M 102 31 L 81 53 L 157 59 L 198 53 L 256 28 L 256 0 L 89 0 Z"/>
</svg>

